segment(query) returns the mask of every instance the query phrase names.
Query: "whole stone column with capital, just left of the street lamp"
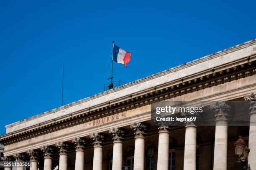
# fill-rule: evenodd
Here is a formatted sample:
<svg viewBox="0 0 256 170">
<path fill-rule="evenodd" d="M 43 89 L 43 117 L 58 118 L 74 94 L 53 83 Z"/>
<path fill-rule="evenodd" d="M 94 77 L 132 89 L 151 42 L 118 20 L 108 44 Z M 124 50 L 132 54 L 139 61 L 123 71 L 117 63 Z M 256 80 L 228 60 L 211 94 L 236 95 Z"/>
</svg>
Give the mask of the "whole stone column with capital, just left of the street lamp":
<svg viewBox="0 0 256 170">
<path fill-rule="evenodd" d="M 230 106 L 225 102 L 216 102 L 210 105 L 215 113 L 215 142 L 213 170 L 227 170 L 227 152 L 228 152 L 228 112 Z"/>
</svg>

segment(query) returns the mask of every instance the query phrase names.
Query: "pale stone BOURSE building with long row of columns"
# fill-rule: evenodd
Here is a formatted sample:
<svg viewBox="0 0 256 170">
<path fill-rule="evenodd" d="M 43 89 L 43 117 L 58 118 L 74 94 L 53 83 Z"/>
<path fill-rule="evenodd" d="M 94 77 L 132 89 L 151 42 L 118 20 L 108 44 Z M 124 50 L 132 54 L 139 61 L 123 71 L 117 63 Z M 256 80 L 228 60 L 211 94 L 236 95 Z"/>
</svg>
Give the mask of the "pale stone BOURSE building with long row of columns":
<svg viewBox="0 0 256 170">
<path fill-rule="evenodd" d="M 256 126 L 151 126 L 151 103 L 163 100 L 246 97 L 256 122 L 255 93 L 251 40 L 7 125 L 0 143 L 5 161 L 31 161 L 31 170 L 238 170 L 243 135 L 256 170 Z"/>
</svg>

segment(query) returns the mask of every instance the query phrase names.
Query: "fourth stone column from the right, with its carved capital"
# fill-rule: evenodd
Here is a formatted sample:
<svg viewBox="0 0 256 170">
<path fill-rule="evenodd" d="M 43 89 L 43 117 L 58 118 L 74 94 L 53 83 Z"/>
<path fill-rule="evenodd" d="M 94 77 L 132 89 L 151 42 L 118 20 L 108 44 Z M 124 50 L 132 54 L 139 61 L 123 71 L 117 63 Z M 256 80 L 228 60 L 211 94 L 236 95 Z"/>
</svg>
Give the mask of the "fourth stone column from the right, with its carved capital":
<svg viewBox="0 0 256 170">
<path fill-rule="evenodd" d="M 159 128 L 157 170 L 168 170 L 169 165 L 169 127 L 161 125 Z"/>
</svg>

